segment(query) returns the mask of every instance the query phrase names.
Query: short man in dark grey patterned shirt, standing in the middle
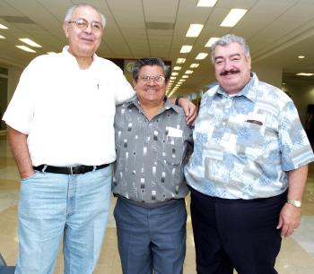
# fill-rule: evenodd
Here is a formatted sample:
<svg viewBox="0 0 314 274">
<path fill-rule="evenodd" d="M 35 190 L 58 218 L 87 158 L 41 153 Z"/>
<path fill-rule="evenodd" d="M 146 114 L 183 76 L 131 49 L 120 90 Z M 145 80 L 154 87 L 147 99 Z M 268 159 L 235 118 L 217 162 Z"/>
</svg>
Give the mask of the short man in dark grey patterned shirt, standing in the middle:
<svg viewBox="0 0 314 274">
<path fill-rule="evenodd" d="M 188 188 L 183 167 L 192 130 L 165 98 L 170 79 L 160 58 L 135 63 L 136 98 L 117 107 L 113 193 L 124 274 L 180 274 L 186 253 Z"/>
</svg>

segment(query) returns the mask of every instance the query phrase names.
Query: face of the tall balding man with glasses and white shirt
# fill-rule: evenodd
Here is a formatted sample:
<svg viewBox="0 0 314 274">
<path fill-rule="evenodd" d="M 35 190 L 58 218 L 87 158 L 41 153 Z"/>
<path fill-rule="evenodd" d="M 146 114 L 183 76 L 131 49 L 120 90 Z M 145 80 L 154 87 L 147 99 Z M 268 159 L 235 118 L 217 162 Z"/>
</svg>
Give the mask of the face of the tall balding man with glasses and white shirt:
<svg viewBox="0 0 314 274">
<path fill-rule="evenodd" d="M 103 28 L 100 14 L 90 6 L 80 6 L 74 10 L 71 21 L 83 19 L 88 22 L 88 26 L 77 26 L 75 22 L 65 22 L 65 36 L 69 42 L 69 52 L 75 57 L 91 57 L 98 47 L 100 47 Z M 99 23 L 99 29 L 92 27 Z M 99 26 L 98 25 L 98 26 Z"/>
</svg>

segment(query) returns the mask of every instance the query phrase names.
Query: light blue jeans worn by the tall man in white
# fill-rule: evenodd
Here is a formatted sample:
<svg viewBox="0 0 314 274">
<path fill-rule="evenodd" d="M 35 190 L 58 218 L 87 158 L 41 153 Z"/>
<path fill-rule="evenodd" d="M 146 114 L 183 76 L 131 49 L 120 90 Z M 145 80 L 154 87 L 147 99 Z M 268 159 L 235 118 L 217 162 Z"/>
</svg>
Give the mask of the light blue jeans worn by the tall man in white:
<svg viewBox="0 0 314 274">
<path fill-rule="evenodd" d="M 65 273 L 90 274 L 107 225 L 112 167 L 22 180 L 16 274 L 52 274 L 63 237 Z"/>
</svg>

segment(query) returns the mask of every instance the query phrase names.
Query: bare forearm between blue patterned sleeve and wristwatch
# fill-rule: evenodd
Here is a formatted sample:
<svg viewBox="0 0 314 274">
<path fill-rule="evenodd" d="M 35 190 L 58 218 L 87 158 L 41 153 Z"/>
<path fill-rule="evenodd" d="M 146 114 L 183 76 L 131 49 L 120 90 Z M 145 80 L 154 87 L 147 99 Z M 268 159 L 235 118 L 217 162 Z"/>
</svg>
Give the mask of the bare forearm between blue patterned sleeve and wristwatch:
<svg viewBox="0 0 314 274">
<path fill-rule="evenodd" d="M 288 199 L 301 201 L 308 176 L 308 165 L 288 172 Z"/>
</svg>

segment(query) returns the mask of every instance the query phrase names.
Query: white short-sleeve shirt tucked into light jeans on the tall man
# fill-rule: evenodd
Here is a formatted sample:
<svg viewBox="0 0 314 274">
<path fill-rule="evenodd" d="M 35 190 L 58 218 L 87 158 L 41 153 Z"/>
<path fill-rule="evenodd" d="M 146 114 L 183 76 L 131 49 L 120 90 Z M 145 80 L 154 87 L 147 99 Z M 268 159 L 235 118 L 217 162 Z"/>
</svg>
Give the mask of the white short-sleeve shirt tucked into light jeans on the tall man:
<svg viewBox="0 0 314 274">
<path fill-rule="evenodd" d="M 111 163 L 116 104 L 135 92 L 116 64 L 94 55 L 81 70 L 67 48 L 31 61 L 3 119 L 28 135 L 33 166 Z"/>
</svg>

